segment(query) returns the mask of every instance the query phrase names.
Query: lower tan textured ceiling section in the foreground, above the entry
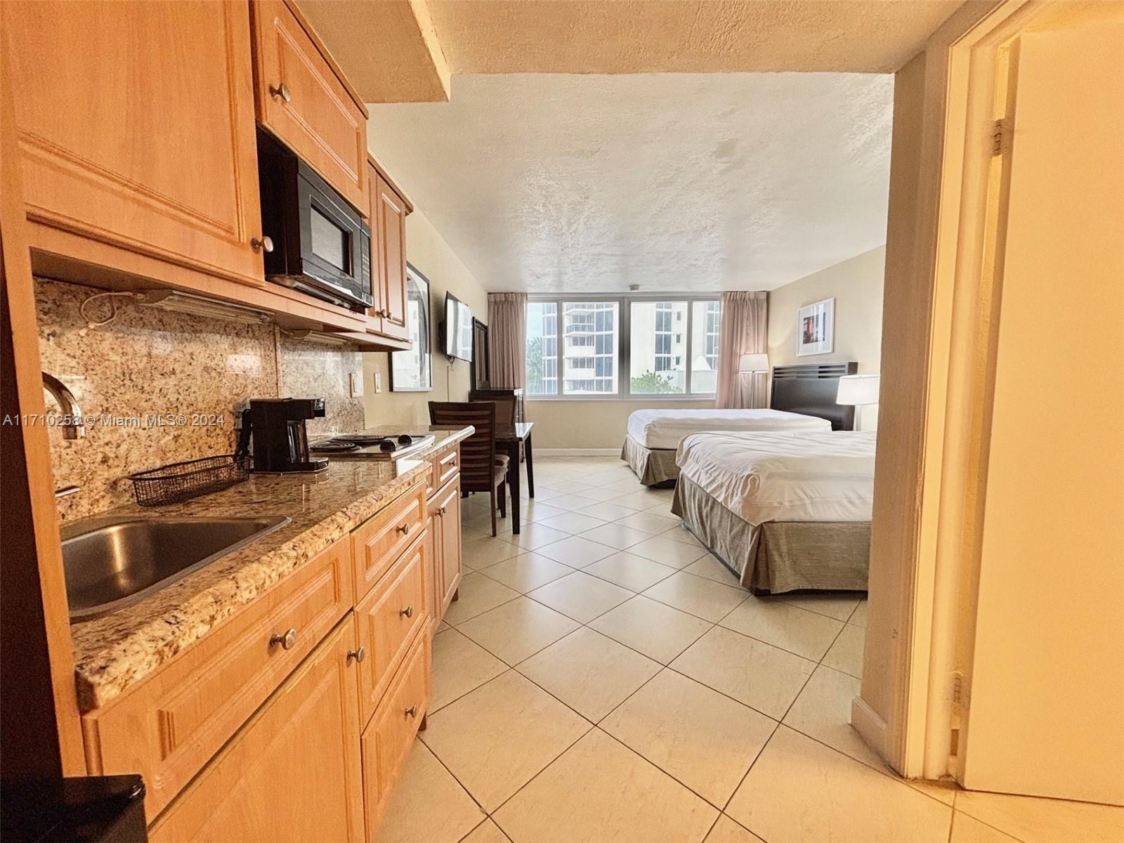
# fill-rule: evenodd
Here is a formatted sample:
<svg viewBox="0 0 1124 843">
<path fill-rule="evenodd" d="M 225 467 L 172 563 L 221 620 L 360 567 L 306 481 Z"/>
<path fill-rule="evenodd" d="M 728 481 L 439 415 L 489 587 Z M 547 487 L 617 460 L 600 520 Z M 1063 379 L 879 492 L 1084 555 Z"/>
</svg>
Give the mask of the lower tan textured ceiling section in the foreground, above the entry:
<svg viewBox="0 0 1124 843">
<path fill-rule="evenodd" d="M 960 4 L 961 0 L 426 0 L 453 73 L 887 73 L 916 54 Z"/>
</svg>

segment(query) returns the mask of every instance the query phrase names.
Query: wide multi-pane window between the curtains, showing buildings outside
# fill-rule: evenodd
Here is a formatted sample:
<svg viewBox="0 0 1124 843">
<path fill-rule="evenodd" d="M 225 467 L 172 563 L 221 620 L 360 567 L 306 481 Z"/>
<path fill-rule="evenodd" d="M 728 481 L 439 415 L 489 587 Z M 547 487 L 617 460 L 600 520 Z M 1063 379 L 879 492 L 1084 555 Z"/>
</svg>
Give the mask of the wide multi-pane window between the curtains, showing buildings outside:
<svg viewBox="0 0 1124 843">
<path fill-rule="evenodd" d="M 713 395 L 719 316 L 717 299 L 694 296 L 529 301 L 526 392 Z"/>
</svg>

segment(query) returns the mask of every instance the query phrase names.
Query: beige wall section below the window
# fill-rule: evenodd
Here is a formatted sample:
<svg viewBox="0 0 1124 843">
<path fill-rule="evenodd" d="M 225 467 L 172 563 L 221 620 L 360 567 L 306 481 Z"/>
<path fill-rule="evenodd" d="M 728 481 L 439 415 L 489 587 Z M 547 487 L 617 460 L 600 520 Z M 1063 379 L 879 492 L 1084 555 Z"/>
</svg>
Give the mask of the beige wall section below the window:
<svg viewBox="0 0 1124 843">
<path fill-rule="evenodd" d="M 714 407 L 701 401 L 527 401 L 527 418 L 535 423 L 535 448 L 614 448 L 625 441 L 628 414 L 651 407 Z"/>
</svg>

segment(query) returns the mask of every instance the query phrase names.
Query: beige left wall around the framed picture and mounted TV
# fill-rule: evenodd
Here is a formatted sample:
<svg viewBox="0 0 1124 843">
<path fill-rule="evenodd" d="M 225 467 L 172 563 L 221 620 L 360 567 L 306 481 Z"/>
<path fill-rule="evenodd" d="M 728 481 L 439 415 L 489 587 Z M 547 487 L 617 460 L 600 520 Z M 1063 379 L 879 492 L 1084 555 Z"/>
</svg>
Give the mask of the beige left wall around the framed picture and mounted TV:
<svg viewBox="0 0 1124 843">
<path fill-rule="evenodd" d="M 470 370 L 463 360 L 450 364 L 437 342 L 437 326 L 444 318 L 445 292 L 452 292 L 472 309 L 472 315 L 488 321 L 488 293 L 437 229 L 419 210 L 406 218 L 406 259 L 429 279 L 429 308 L 433 348 L 433 389 L 428 392 L 391 392 L 390 355 L 363 355 L 363 406 L 368 425 L 429 424 L 429 401 L 465 401 Z M 374 374 L 382 381 L 382 392 L 374 392 Z"/>
</svg>

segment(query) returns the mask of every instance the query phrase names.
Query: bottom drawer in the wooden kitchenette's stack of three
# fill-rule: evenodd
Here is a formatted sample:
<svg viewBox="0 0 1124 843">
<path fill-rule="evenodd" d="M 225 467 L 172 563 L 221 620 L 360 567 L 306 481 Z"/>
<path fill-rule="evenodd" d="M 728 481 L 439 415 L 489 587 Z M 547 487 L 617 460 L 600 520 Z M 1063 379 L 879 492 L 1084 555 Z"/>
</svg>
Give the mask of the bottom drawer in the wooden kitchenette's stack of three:
<svg viewBox="0 0 1124 843">
<path fill-rule="evenodd" d="M 429 631 L 424 629 L 363 733 L 366 839 L 375 840 L 395 780 L 429 706 Z"/>
</svg>

